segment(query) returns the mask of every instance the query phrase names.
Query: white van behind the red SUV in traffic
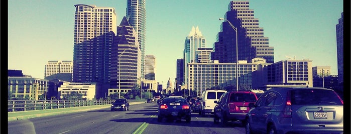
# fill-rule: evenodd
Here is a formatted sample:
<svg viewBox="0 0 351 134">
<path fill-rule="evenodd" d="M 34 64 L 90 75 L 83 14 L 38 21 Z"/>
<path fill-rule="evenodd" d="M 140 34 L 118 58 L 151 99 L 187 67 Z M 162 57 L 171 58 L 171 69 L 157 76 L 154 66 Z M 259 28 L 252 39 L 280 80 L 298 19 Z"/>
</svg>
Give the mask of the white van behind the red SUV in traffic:
<svg viewBox="0 0 351 134">
<path fill-rule="evenodd" d="M 200 115 L 205 115 L 206 113 L 212 113 L 214 111 L 214 100 L 219 99 L 219 97 L 225 93 L 226 90 L 209 89 L 205 90 L 201 94 L 201 108 L 199 110 Z"/>
</svg>

